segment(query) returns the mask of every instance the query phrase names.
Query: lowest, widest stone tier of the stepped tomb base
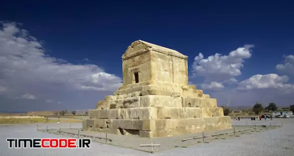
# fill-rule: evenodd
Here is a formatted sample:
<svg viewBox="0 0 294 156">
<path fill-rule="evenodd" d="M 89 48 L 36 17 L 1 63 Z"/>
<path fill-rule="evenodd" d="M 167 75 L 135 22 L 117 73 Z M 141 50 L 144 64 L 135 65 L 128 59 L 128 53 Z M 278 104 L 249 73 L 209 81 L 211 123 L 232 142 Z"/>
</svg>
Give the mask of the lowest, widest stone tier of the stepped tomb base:
<svg viewBox="0 0 294 156">
<path fill-rule="evenodd" d="M 229 116 L 185 119 L 86 119 L 83 130 L 140 137 L 169 137 L 231 128 Z"/>
</svg>

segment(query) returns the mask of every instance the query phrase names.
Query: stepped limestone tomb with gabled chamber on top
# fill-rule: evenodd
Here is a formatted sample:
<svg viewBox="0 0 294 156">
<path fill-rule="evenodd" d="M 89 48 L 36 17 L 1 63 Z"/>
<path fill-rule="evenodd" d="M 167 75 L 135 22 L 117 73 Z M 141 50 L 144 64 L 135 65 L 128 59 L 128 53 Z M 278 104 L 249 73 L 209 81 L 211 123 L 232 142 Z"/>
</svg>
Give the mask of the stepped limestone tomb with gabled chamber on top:
<svg viewBox="0 0 294 156">
<path fill-rule="evenodd" d="M 142 40 L 123 59 L 123 85 L 97 103 L 83 130 L 169 137 L 231 128 L 216 99 L 188 85 L 187 56 Z"/>
</svg>

